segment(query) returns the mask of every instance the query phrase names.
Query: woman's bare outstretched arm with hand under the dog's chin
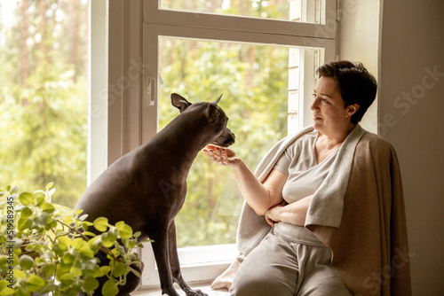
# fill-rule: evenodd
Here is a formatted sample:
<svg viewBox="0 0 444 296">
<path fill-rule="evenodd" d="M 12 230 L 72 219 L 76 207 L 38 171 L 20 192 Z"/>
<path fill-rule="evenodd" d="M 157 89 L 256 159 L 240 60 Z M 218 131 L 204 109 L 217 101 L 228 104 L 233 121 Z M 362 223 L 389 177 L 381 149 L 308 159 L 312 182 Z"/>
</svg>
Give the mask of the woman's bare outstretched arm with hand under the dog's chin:
<svg viewBox="0 0 444 296">
<path fill-rule="evenodd" d="M 242 193 L 243 198 L 258 215 L 266 214 L 266 211 L 283 201 L 282 188 L 288 175 L 273 169 L 267 176 L 266 182 L 260 183 L 250 168 L 243 163 L 233 150 L 215 145 L 207 145 L 202 152 L 210 160 L 233 168 L 234 178 Z"/>
</svg>

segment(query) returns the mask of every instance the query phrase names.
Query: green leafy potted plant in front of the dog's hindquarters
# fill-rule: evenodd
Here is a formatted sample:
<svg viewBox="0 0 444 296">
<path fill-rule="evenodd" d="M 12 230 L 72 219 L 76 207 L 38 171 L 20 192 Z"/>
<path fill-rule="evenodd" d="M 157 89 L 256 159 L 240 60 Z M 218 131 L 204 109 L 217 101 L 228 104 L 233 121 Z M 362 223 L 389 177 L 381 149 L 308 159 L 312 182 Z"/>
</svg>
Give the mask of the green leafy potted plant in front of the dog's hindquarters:
<svg viewBox="0 0 444 296">
<path fill-rule="evenodd" d="M 54 191 L 52 183 L 33 193 L 0 190 L 0 296 L 92 295 L 99 277 L 106 279 L 102 293 L 114 296 L 130 272 L 140 277 L 140 233 L 105 217 L 87 222 L 82 211 L 52 203 Z M 99 251 L 109 264 L 100 264 Z"/>
</svg>

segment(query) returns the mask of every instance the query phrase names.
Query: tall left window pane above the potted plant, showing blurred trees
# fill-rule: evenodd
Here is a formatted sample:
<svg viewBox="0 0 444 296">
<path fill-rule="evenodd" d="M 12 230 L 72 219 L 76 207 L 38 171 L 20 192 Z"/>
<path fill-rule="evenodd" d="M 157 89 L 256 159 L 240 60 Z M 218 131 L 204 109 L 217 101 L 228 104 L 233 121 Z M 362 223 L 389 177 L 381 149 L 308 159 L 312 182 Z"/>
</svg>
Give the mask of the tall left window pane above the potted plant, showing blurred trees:
<svg viewBox="0 0 444 296">
<path fill-rule="evenodd" d="M 0 1 L 0 184 L 86 188 L 87 1 Z"/>
</svg>

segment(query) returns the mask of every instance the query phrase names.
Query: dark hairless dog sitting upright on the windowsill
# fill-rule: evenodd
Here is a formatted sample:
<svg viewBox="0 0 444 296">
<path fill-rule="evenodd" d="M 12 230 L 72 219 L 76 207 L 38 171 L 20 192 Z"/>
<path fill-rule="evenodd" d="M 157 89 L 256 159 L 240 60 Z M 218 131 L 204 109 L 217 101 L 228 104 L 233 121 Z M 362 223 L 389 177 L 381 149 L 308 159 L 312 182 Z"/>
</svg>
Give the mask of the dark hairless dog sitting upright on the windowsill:
<svg viewBox="0 0 444 296">
<path fill-rule="evenodd" d="M 112 224 L 124 221 L 134 232 L 141 231 L 141 240 L 153 239 L 162 292 L 170 296 L 178 296 L 173 282 L 186 295 L 206 295 L 191 290 L 181 276 L 174 217 L 184 204 L 186 175 L 197 153 L 207 144 L 234 144 L 219 99 L 191 104 L 172 94 L 171 104 L 180 114 L 147 143 L 108 167 L 75 206 L 88 214 L 88 221 L 99 216 Z M 131 292 L 138 284 L 139 277 L 129 278 L 119 295 Z"/>
</svg>

